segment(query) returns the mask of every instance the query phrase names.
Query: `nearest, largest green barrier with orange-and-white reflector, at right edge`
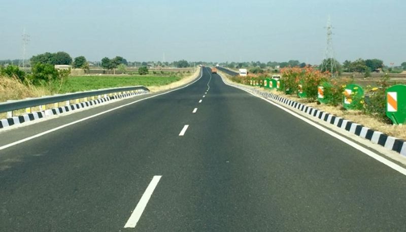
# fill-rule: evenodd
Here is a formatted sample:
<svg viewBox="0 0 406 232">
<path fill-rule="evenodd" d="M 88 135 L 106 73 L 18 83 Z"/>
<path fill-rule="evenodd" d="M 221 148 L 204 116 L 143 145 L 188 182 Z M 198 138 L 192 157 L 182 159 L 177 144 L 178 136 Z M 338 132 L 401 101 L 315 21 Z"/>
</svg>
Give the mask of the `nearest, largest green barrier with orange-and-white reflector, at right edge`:
<svg viewBox="0 0 406 232">
<path fill-rule="evenodd" d="M 406 85 L 394 85 L 386 90 L 386 116 L 393 124 L 406 121 Z"/>
</svg>

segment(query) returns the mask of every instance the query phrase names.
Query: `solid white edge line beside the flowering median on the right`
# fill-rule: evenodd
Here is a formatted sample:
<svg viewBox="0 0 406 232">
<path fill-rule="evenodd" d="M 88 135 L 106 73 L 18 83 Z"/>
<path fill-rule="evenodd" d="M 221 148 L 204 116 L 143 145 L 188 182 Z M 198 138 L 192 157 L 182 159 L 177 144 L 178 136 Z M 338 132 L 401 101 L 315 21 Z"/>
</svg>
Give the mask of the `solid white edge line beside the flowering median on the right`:
<svg viewBox="0 0 406 232">
<path fill-rule="evenodd" d="M 223 78 L 222 78 L 222 80 L 223 80 Z M 343 136 L 340 136 L 339 134 L 336 134 L 335 132 L 333 132 L 333 131 L 331 131 L 331 130 L 329 130 L 329 129 L 324 128 L 323 126 L 321 126 L 321 125 L 319 125 L 319 124 L 317 124 L 317 123 L 311 121 L 310 119 L 307 119 L 307 118 L 305 118 L 305 117 L 303 117 L 303 116 L 300 116 L 300 115 L 298 115 L 297 113 L 295 113 L 295 112 L 293 112 L 293 111 L 291 111 L 291 110 L 289 110 L 289 109 L 287 109 L 287 108 L 285 108 L 285 107 L 283 107 L 283 106 L 280 106 L 279 104 L 276 104 L 276 103 L 274 103 L 274 102 L 272 102 L 272 101 L 270 101 L 270 100 L 267 100 L 267 99 L 265 99 L 265 98 L 263 98 L 263 97 L 261 97 L 261 96 L 258 96 L 258 95 L 256 95 L 256 94 L 254 94 L 254 93 L 251 93 L 250 91 L 248 91 L 248 90 L 246 90 L 246 89 L 244 89 L 244 88 L 242 88 L 242 87 L 230 85 L 230 84 L 226 83 L 224 80 L 223 80 L 223 82 L 224 82 L 226 85 L 228 85 L 228 86 L 231 86 L 231 87 L 234 87 L 234 88 L 238 88 L 238 89 L 244 90 L 244 91 L 250 93 L 251 95 L 256 96 L 256 97 L 262 99 L 263 101 L 266 101 L 266 102 L 268 102 L 268 103 L 270 103 L 270 104 L 272 104 L 272 105 L 274 105 L 274 106 L 276 106 L 276 107 L 278 107 L 278 108 L 280 108 L 280 109 L 286 111 L 287 113 L 289 113 L 289 114 L 291 114 L 291 115 L 293 115 L 293 116 L 295 116 L 295 117 L 297 117 L 297 118 L 303 120 L 304 122 L 309 123 L 310 125 L 312 125 L 312 126 L 318 128 L 318 129 L 320 129 L 321 131 L 327 133 L 328 135 L 330 135 L 330 136 L 332 136 L 332 137 L 334 137 L 334 138 L 336 138 L 336 139 L 339 139 L 339 140 L 343 141 L 344 143 L 350 145 L 351 147 L 353 147 L 353 148 L 355 148 L 355 149 L 361 151 L 362 153 L 364 153 L 364 154 L 366 154 L 366 155 L 368 155 L 368 156 L 370 156 L 370 157 L 372 157 L 372 158 L 378 160 L 379 162 L 381 162 L 381 163 L 387 165 L 388 167 L 392 168 L 393 170 L 395 170 L 395 171 L 397 171 L 397 172 L 399 172 L 399 173 L 401 173 L 401 174 L 403 174 L 403 175 L 406 176 L 406 169 L 404 169 L 404 168 L 402 168 L 400 165 L 398 165 L 398 164 L 396 164 L 396 163 L 394 163 L 394 162 L 392 162 L 392 161 L 390 161 L 390 160 L 388 160 L 388 159 L 386 159 L 386 158 L 384 158 L 384 157 L 378 155 L 377 153 L 375 153 L 375 152 L 373 152 L 373 151 L 371 151 L 371 150 L 368 150 L 368 149 L 366 149 L 366 148 L 364 148 L 364 147 L 358 145 L 357 143 L 354 143 L 354 142 L 352 142 L 351 140 L 349 140 L 349 139 L 347 139 L 347 138 L 344 138 Z"/>
</svg>

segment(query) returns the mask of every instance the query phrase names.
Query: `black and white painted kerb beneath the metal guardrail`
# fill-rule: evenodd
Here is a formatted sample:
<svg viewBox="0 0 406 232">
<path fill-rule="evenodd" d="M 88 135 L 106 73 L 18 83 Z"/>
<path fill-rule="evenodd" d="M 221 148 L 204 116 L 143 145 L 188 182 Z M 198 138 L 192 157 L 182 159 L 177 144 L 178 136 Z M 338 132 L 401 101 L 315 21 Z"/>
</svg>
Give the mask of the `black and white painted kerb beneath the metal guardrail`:
<svg viewBox="0 0 406 232">
<path fill-rule="evenodd" d="M 64 106 L 64 107 L 57 107 L 57 108 L 39 111 L 39 112 L 33 112 L 33 113 L 24 114 L 21 116 L 11 117 L 11 118 L 7 118 L 7 119 L 1 119 L 0 128 L 5 128 L 5 127 L 21 124 L 24 122 L 29 122 L 29 121 L 37 120 L 40 118 L 57 115 L 57 114 L 62 114 L 65 112 L 70 112 L 70 111 L 74 111 L 74 110 L 78 110 L 78 109 L 83 109 L 86 107 L 102 104 L 102 103 L 120 99 L 120 98 L 142 95 L 142 94 L 146 94 L 146 93 L 149 93 L 149 91 L 141 89 L 141 90 L 138 90 L 135 92 L 117 94 L 114 96 L 106 96 L 106 97 L 102 97 L 102 98 L 88 101 L 88 102 L 73 104 L 73 105 Z"/>
</svg>

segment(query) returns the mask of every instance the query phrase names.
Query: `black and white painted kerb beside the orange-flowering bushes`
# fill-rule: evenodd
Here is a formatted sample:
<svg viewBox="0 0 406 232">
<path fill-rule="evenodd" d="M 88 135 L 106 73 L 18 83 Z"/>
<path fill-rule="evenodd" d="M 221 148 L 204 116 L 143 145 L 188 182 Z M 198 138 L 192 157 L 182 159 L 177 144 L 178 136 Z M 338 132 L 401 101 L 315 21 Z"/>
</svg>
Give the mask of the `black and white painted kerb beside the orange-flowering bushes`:
<svg viewBox="0 0 406 232">
<path fill-rule="evenodd" d="M 225 80 L 224 80 L 225 82 Z M 225 82 L 226 83 L 226 82 Z M 229 85 L 233 85 L 228 83 Z M 233 85 L 235 87 L 239 87 L 241 88 L 241 86 L 238 85 Z M 367 139 L 375 144 L 379 144 L 383 147 L 385 147 L 386 149 L 395 151 L 397 153 L 400 153 L 403 156 L 406 156 L 406 142 L 395 138 L 395 137 L 391 137 L 388 136 L 386 134 L 383 134 L 380 131 L 376 131 L 373 129 L 370 129 L 368 127 L 365 127 L 363 125 L 357 124 L 355 122 L 352 122 L 350 120 L 346 120 L 344 118 L 341 117 L 337 117 L 333 114 L 306 106 L 304 104 L 289 100 L 287 98 L 281 97 L 279 95 L 270 93 L 270 92 L 265 92 L 265 91 L 261 91 L 259 89 L 256 88 L 252 88 L 252 87 L 244 87 L 244 89 L 251 91 L 257 95 L 261 95 L 265 98 L 268 98 L 270 100 L 275 100 L 277 102 L 280 102 L 282 104 L 288 105 L 290 107 L 296 108 L 306 114 L 309 114 L 313 117 L 317 117 L 323 121 L 326 121 L 334 126 L 340 127 L 342 129 L 345 129 L 347 131 L 349 131 L 351 134 L 357 135 L 361 138 Z"/>
</svg>

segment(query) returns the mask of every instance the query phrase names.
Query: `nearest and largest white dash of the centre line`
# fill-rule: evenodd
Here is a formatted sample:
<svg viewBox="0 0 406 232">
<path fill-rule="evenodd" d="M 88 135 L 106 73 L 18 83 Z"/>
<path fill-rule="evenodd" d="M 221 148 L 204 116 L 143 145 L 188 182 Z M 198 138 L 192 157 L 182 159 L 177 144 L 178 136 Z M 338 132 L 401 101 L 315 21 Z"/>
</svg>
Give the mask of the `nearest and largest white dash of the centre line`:
<svg viewBox="0 0 406 232">
<path fill-rule="evenodd" d="M 140 220 L 141 215 L 143 214 L 145 207 L 148 204 L 149 199 L 151 198 L 152 193 L 155 190 L 156 185 L 158 184 L 159 180 L 162 176 L 154 176 L 151 182 L 149 183 L 147 189 L 143 196 L 141 197 L 140 201 L 138 202 L 134 211 L 132 211 L 131 216 L 128 218 L 127 223 L 125 223 L 124 228 L 135 228 L 137 222 Z"/>
</svg>

